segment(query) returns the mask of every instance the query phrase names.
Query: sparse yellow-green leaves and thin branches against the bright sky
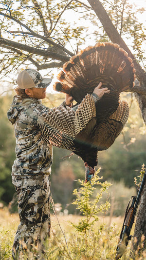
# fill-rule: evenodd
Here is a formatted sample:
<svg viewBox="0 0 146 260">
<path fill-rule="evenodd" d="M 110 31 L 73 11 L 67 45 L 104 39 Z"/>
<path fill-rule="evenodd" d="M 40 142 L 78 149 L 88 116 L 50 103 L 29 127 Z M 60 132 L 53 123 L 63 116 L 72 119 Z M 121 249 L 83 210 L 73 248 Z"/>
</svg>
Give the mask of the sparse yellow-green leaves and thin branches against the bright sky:
<svg viewBox="0 0 146 260">
<path fill-rule="evenodd" d="M 146 28 L 138 19 L 145 8 L 135 8 L 125 0 L 102 0 L 101 3 L 123 39 L 130 40 L 136 58 L 145 66 Z M 11 82 L 12 71 L 30 64 L 37 70 L 62 67 L 79 48 L 96 41 L 109 41 L 87 0 L 0 1 L 0 37 L 1 77 L 11 73 Z"/>
</svg>

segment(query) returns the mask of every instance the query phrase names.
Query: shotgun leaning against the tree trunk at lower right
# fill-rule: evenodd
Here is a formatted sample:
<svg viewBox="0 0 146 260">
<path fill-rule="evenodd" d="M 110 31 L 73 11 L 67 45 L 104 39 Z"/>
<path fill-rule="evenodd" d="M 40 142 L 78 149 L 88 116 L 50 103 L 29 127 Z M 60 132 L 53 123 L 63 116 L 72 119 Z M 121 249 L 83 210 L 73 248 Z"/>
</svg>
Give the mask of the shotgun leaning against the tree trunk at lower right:
<svg viewBox="0 0 146 260">
<path fill-rule="evenodd" d="M 131 238 L 132 238 L 132 236 L 130 235 L 130 232 L 132 229 L 132 225 L 134 223 L 136 211 L 138 208 L 138 204 L 140 202 L 141 193 L 142 193 L 145 182 L 146 182 L 146 171 L 145 171 L 143 179 L 141 181 L 141 185 L 140 185 L 137 197 L 132 196 L 130 201 L 128 202 L 128 206 L 126 209 L 125 218 L 124 218 L 124 222 L 123 222 L 123 226 L 122 226 L 122 230 L 121 230 L 121 234 L 120 234 L 120 242 L 118 243 L 117 248 L 116 248 L 115 260 L 118 260 L 119 258 L 122 257 L 122 255 L 124 254 L 124 252 L 128 246 L 128 241 L 131 240 Z"/>
</svg>

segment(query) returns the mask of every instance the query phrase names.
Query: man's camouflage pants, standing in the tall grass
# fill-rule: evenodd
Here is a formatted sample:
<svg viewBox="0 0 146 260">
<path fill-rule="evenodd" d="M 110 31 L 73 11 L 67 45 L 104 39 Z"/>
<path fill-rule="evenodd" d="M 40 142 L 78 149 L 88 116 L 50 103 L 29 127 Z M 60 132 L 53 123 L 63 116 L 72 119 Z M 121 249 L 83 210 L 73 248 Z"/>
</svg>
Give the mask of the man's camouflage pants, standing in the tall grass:
<svg viewBox="0 0 146 260">
<path fill-rule="evenodd" d="M 50 180 L 44 176 L 13 176 L 18 195 L 20 224 L 13 244 L 13 259 L 26 253 L 44 251 L 43 242 L 50 236 Z"/>
</svg>

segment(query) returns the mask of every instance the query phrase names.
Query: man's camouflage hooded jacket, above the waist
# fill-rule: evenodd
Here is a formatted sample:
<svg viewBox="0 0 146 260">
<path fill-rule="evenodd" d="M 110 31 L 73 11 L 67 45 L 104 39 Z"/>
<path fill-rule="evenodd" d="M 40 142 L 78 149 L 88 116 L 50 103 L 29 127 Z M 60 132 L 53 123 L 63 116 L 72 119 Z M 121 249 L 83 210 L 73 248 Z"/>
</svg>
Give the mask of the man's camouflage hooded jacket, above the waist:
<svg viewBox="0 0 146 260">
<path fill-rule="evenodd" d="M 14 96 L 8 120 L 14 124 L 16 136 L 16 160 L 12 166 L 12 175 L 42 175 L 51 173 L 52 146 L 45 143 L 36 126 L 37 121 L 43 122 L 44 113 L 49 108 L 40 100 L 27 98 L 20 100 Z"/>
</svg>

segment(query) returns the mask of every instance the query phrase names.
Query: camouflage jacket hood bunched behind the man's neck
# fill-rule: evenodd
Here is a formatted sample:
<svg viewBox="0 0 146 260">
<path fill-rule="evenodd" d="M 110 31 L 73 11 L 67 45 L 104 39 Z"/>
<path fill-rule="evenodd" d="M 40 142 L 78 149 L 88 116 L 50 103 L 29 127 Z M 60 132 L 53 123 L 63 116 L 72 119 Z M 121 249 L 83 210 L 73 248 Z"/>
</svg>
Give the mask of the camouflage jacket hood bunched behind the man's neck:
<svg viewBox="0 0 146 260">
<path fill-rule="evenodd" d="M 11 104 L 10 109 L 7 112 L 7 117 L 8 120 L 14 124 L 19 112 L 24 108 L 24 106 L 29 105 L 31 103 L 40 103 L 40 100 L 33 99 L 33 98 L 26 98 L 26 99 L 21 99 L 20 96 L 16 95 L 13 98 L 13 102 Z"/>
</svg>

